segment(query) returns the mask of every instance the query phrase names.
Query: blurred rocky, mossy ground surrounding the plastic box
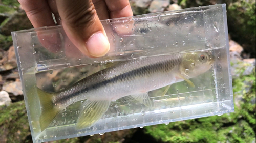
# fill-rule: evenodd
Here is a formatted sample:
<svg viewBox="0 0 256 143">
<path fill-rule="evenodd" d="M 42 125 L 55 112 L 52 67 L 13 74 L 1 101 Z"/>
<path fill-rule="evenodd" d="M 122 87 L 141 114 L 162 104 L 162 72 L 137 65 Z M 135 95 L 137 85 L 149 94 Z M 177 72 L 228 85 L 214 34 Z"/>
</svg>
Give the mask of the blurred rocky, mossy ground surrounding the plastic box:
<svg viewBox="0 0 256 143">
<path fill-rule="evenodd" d="M 235 111 L 52 142 L 256 142 L 255 0 L 133 0 L 134 15 L 227 4 Z M 32 142 L 12 31 L 33 28 L 16 0 L 0 0 L 0 142 Z"/>
</svg>

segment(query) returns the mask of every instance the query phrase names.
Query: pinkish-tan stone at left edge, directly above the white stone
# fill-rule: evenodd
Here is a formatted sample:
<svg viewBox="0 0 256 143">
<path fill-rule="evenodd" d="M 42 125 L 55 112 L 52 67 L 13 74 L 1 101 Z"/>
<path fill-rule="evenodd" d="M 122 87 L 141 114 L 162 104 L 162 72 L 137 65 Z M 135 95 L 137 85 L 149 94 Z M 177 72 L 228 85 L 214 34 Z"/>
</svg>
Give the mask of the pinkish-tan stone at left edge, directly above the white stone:
<svg viewBox="0 0 256 143">
<path fill-rule="evenodd" d="M 15 96 L 23 95 L 22 82 L 20 82 L 20 81 L 5 82 L 3 85 L 3 90 L 7 91 L 8 93 L 12 93 Z"/>
</svg>

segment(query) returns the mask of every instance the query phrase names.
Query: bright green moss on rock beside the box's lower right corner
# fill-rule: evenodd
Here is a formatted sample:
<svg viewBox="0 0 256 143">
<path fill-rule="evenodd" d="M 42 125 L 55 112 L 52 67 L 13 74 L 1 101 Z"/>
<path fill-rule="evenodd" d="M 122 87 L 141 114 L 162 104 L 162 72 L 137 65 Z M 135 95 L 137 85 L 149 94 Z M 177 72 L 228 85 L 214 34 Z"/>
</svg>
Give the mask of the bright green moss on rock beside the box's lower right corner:
<svg viewBox="0 0 256 143">
<path fill-rule="evenodd" d="M 246 92 L 245 88 L 250 90 Z M 234 96 L 243 95 L 243 101 L 234 106 L 233 113 L 147 126 L 145 133 L 163 142 L 252 142 L 256 115 L 251 100 L 255 100 L 255 88 L 255 70 L 250 75 L 241 74 L 233 80 L 233 90 Z"/>
</svg>

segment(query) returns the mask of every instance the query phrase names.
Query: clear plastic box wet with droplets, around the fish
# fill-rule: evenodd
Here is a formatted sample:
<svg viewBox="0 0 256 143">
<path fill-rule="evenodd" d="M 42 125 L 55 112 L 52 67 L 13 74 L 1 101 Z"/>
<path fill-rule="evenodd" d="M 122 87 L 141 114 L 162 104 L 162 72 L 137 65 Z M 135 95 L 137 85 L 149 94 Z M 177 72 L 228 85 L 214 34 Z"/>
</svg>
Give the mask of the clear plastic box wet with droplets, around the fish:
<svg viewBox="0 0 256 143">
<path fill-rule="evenodd" d="M 84 56 L 70 42 L 62 26 L 12 32 L 33 142 L 233 112 L 225 7 L 220 4 L 102 20 L 111 49 L 95 59 Z M 195 88 L 181 82 L 173 84 L 165 96 L 152 92 L 152 109 L 117 100 L 94 126 L 81 130 L 75 128 L 79 101 L 61 112 L 45 131 L 40 129 L 36 87 L 54 92 L 101 70 L 105 63 L 201 50 L 211 51 L 216 61 L 208 72 L 191 79 Z"/>
</svg>

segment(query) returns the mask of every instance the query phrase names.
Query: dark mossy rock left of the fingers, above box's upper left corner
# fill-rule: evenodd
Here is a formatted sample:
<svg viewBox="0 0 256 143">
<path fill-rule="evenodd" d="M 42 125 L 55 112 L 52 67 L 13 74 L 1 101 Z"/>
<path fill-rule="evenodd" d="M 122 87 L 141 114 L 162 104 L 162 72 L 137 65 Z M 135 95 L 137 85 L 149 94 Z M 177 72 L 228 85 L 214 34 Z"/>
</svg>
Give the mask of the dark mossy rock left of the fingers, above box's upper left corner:
<svg viewBox="0 0 256 143">
<path fill-rule="evenodd" d="M 29 21 L 26 12 L 20 10 L 1 24 L 0 32 L 3 35 L 9 36 L 11 35 L 12 31 L 25 30 L 30 28 L 33 28 L 33 26 Z"/>
</svg>

